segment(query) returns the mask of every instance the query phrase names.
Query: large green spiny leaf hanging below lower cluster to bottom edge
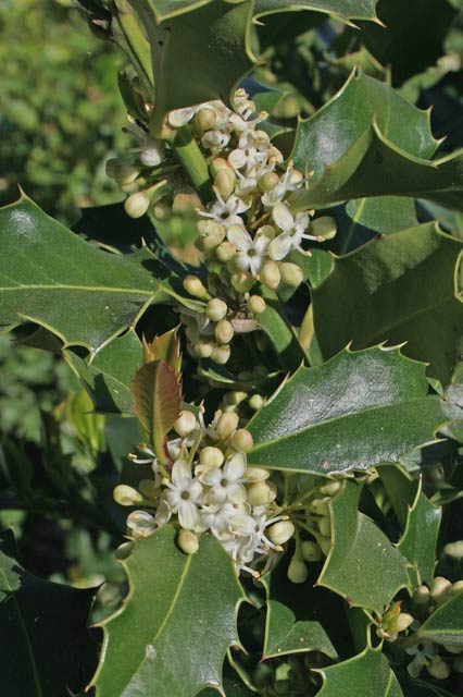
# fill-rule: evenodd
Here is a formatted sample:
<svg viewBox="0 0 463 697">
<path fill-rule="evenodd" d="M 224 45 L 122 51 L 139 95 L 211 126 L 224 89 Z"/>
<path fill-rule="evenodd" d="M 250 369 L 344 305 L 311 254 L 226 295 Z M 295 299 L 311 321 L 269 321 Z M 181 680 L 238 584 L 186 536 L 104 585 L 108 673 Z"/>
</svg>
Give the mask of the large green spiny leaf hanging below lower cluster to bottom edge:
<svg viewBox="0 0 463 697">
<path fill-rule="evenodd" d="M 199 551 L 188 555 L 176 548 L 175 534 L 165 525 L 123 562 L 130 591 L 103 624 L 97 697 L 193 697 L 208 686 L 222 688 L 243 592 L 213 536 L 202 535 Z"/>
</svg>

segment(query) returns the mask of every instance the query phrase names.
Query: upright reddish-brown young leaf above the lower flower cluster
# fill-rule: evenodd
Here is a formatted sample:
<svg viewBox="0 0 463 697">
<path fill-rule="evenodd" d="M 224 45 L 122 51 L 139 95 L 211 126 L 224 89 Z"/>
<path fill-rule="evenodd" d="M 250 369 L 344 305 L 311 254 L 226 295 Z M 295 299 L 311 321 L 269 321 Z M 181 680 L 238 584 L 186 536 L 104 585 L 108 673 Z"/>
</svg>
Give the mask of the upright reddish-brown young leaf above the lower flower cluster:
<svg viewBox="0 0 463 697">
<path fill-rule="evenodd" d="M 137 370 L 133 384 L 134 411 L 148 442 L 162 463 L 167 461 L 165 436 L 182 409 L 182 384 L 166 360 L 146 363 Z"/>
</svg>

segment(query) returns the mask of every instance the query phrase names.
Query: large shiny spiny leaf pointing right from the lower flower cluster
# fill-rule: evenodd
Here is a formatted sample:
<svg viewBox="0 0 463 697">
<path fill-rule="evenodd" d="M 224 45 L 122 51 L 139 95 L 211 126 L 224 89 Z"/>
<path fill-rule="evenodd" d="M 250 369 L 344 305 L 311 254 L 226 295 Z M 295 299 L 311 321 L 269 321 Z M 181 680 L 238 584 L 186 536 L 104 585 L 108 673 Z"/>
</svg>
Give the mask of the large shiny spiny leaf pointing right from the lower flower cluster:
<svg viewBox="0 0 463 697">
<path fill-rule="evenodd" d="M 327 475 L 397 463 L 450 418 L 425 365 L 400 350 L 345 350 L 299 368 L 248 425 L 255 466 Z"/>
</svg>

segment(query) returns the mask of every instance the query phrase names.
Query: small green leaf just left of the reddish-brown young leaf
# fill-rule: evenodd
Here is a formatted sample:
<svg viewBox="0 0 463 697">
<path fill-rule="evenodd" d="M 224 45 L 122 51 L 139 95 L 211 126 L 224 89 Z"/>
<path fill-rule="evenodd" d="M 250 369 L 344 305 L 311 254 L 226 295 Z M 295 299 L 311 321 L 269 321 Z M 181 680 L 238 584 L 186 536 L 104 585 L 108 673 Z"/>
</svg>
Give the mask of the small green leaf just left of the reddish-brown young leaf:
<svg viewBox="0 0 463 697">
<path fill-rule="evenodd" d="M 77 372 L 91 396 L 96 412 L 129 414 L 134 412 L 132 381 L 142 365 L 142 348 L 137 334 L 129 330 L 113 339 L 93 359 L 84 360 L 73 351 L 64 357 Z"/>
</svg>

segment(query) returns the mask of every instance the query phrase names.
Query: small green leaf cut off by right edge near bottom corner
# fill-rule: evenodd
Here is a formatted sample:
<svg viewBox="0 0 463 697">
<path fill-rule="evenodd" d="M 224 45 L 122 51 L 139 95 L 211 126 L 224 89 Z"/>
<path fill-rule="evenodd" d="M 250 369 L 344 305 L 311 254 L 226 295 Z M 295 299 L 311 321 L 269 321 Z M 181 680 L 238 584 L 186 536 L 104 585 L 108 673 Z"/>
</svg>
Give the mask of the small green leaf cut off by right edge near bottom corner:
<svg viewBox="0 0 463 697">
<path fill-rule="evenodd" d="M 454 596 L 437 608 L 422 624 L 417 636 L 420 640 L 463 649 L 463 595 Z"/>
</svg>

